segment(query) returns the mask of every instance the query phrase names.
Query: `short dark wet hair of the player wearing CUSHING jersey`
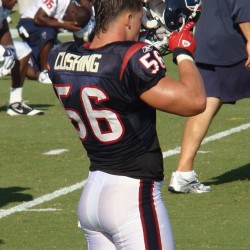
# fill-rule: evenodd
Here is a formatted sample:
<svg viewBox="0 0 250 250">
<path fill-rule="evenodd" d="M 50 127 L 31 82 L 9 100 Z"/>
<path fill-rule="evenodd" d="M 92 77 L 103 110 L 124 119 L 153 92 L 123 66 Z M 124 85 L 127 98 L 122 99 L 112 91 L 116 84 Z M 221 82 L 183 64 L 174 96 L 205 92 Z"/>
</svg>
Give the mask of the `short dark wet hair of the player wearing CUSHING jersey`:
<svg viewBox="0 0 250 250">
<path fill-rule="evenodd" d="M 93 3 L 95 9 L 95 32 L 105 32 L 107 25 L 123 11 L 140 11 L 142 0 L 97 0 Z"/>
</svg>

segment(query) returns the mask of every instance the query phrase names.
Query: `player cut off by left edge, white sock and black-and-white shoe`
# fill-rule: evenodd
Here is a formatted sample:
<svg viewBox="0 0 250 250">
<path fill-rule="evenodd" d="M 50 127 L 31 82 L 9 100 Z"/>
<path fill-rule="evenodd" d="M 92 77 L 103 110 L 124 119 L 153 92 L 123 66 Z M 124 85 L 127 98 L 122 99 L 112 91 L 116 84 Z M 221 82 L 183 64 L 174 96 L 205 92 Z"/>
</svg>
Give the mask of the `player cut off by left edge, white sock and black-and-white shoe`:
<svg viewBox="0 0 250 250">
<path fill-rule="evenodd" d="M 11 74 L 11 91 L 7 114 L 42 115 L 41 110 L 32 109 L 23 103 L 22 92 L 31 49 L 26 43 L 12 40 L 6 16 L 15 6 L 16 0 L 0 0 L 0 77 Z"/>
</svg>

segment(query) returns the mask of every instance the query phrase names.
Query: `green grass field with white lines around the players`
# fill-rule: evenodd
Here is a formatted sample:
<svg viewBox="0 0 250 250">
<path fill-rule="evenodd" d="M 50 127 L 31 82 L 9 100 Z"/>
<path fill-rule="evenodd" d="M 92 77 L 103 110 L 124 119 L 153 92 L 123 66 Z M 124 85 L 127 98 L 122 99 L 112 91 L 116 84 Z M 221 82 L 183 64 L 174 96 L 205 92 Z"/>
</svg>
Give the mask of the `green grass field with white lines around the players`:
<svg viewBox="0 0 250 250">
<path fill-rule="evenodd" d="M 176 68 L 167 58 L 169 74 Z M 87 250 L 76 206 L 89 161 L 52 87 L 26 80 L 24 100 L 45 116 L 9 117 L 10 78 L 0 79 L 0 249 Z M 159 112 L 164 152 L 163 198 L 177 250 L 250 249 L 250 100 L 225 105 L 196 157 L 207 194 L 167 191 L 175 170 L 184 118 Z M 221 133 L 224 132 L 224 133 Z M 61 154 L 46 154 L 62 150 Z M 52 151 L 52 153 L 55 151 Z M 102 250 L 102 249 L 100 249 Z M 151 249 L 154 250 L 154 249 Z"/>
</svg>

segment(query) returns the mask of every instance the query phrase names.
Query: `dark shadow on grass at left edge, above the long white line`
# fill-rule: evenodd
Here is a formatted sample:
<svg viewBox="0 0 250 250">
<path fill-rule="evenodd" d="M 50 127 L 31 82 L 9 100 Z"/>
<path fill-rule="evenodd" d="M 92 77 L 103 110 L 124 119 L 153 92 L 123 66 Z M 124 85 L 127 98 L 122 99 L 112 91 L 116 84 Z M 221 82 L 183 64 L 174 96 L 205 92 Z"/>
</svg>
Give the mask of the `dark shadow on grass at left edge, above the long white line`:
<svg viewBox="0 0 250 250">
<path fill-rule="evenodd" d="M 29 190 L 25 187 L 7 187 L 0 188 L 0 207 L 3 207 L 12 202 L 23 202 L 33 200 L 33 196 L 30 194 L 22 194 L 20 192 Z"/>
</svg>

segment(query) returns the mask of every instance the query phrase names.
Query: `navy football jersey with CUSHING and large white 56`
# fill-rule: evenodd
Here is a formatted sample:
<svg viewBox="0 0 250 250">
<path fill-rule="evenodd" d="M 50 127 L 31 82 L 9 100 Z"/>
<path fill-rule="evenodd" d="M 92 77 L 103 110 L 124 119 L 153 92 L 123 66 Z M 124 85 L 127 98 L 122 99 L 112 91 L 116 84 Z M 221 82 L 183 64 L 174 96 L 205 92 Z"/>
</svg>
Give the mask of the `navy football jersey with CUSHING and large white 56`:
<svg viewBox="0 0 250 250">
<path fill-rule="evenodd" d="M 90 158 L 90 170 L 162 180 L 156 111 L 140 99 L 165 76 L 159 52 L 146 43 L 98 49 L 77 42 L 51 50 L 49 76 Z"/>
</svg>

